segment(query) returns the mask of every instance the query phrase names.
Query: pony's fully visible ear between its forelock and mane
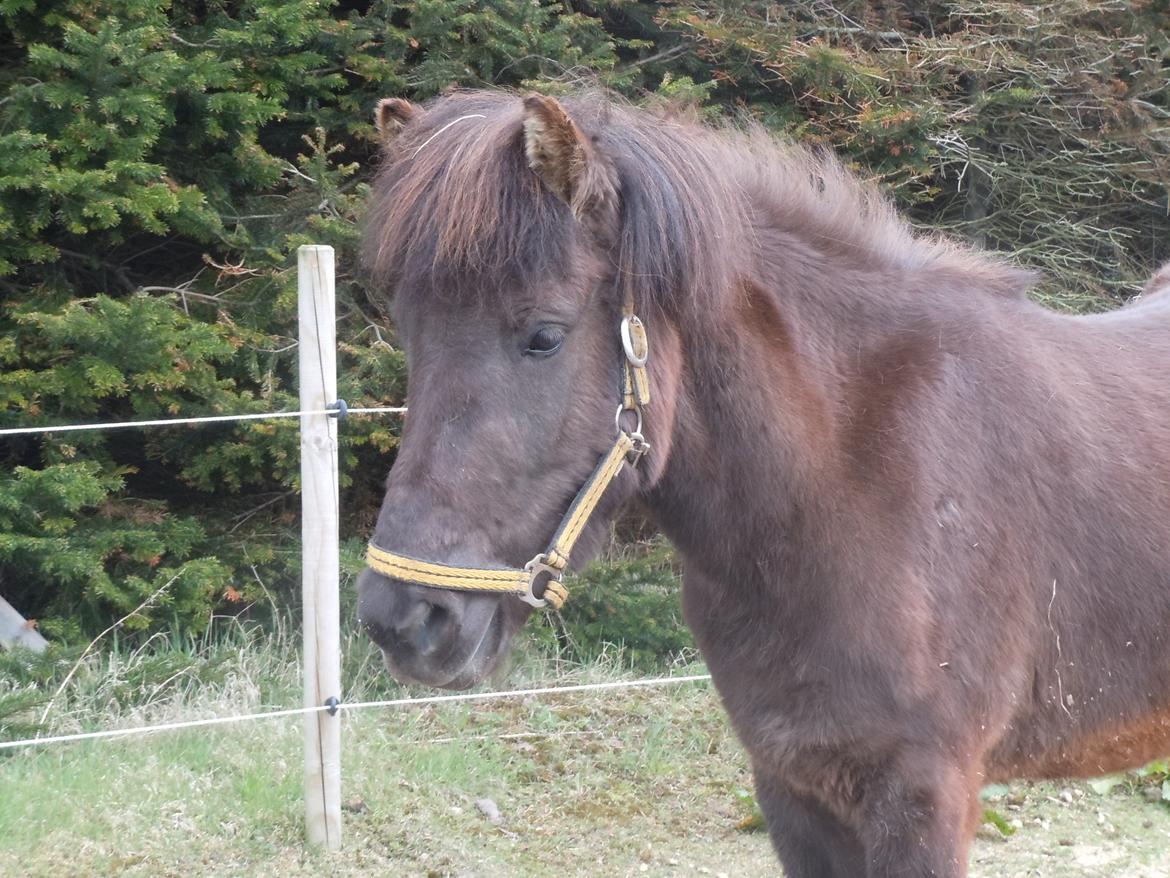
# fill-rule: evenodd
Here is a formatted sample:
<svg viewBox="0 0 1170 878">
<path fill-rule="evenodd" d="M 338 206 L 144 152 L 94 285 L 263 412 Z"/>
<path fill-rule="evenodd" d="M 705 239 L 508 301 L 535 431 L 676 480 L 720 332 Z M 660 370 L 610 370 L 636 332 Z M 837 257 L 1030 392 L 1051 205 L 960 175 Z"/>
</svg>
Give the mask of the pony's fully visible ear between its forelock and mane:
<svg viewBox="0 0 1170 878">
<path fill-rule="evenodd" d="M 555 97 L 524 98 L 529 166 L 577 219 L 603 232 L 617 219 L 617 174 Z"/>
</svg>

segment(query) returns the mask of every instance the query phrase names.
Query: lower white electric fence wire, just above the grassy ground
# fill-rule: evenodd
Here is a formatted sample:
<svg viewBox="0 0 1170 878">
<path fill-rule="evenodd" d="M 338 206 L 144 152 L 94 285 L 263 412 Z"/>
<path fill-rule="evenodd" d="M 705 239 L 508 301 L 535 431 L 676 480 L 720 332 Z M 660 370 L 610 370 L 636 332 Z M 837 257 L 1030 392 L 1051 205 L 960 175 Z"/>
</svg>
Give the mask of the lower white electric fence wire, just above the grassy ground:
<svg viewBox="0 0 1170 878">
<path fill-rule="evenodd" d="M 109 728 L 102 732 L 80 732 L 70 735 L 47 735 L 44 738 L 27 738 L 20 741 L 0 741 L 0 750 L 16 747 L 42 747 L 49 743 L 67 743 L 71 741 L 92 741 L 99 738 L 125 738 L 126 735 L 146 735 L 154 732 L 171 732 L 179 728 L 199 728 L 201 726 L 225 726 L 230 722 L 249 720 L 274 720 L 281 716 L 298 716 L 321 711 L 363 711 L 369 707 L 407 707 L 412 705 L 439 705 L 452 701 L 491 701 L 509 698 L 528 698 L 531 695 L 553 695 L 566 692 L 603 692 L 607 690 L 645 688 L 647 686 L 669 686 L 682 682 L 703 682 L 711 679 L 710 674 L 689 674 L 687 677 L 654 677 L 641 680 L 617 680 L 614 682 L 583 682 L 576 686 L 541 686 L 528 690 L 508 690 L 503 692 L 461 692 L 455 695 L 429 695 L 426 698 L 394 698 L 385 701 L 340 702 L 335 706 L 291 707 L 285 711 L 268 711 L 266 713 L 248 713 L 238 716 L 213 716 L 202 720 L 183 722 L 163 722 L 157 726 L 132 726 L 130 728 Z"/>
</svg>

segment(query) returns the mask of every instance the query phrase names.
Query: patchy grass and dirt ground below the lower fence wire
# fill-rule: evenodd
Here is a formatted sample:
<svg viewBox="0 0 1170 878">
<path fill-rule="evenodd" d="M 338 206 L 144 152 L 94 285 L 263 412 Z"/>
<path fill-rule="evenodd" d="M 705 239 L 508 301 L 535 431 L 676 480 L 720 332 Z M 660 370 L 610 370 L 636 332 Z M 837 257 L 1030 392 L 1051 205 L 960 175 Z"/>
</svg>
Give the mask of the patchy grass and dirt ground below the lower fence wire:
<svg viewBox="0 0 1170 878">
<path fill-rule="evenodd" d="M 296 721 L 0 757 L 0 876 L 780 873 L 737 829 L 750 777 L 704 685 L 371 711 L 344 740 L 337 855 L 301 842 Z M 1170 808 L 1141 788 L 1000 793 L 1018 829 L 984 828 L 972 876 L 1170 878 Z"/>
</svg>

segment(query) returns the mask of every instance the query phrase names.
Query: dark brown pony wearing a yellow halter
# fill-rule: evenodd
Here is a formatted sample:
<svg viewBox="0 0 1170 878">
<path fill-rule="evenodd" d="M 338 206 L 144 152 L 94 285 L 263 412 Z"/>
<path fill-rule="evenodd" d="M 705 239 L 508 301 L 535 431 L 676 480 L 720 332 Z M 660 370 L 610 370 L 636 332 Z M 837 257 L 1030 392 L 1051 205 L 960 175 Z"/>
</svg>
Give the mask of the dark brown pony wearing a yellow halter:
<svg viewBox="0 0 1170 878">
<path fill-rule="evenodd" d="M 1170 295 L 1046 310 L 760 131 L 500 92 L 378 123 L 366 258 L 411 413 L 376 543 L 539 551 L 614 441 L 632 301 L 652 450 L 573 560 L 629 500 L 673 540 L 789 876 L 963 876 L 985 783 L 1170 752 Z M 434 686 L 531 611 L 359 589 L 391 673 Z"/>
</svg>

